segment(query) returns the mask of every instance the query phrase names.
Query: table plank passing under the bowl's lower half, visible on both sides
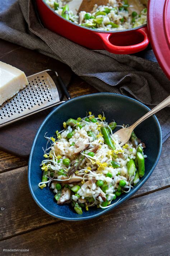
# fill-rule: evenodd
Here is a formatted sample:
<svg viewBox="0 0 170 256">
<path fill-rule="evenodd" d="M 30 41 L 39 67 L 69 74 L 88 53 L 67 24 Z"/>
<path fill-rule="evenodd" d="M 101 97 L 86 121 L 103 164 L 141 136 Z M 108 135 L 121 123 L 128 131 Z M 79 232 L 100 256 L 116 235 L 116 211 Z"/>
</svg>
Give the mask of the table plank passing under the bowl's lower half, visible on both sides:
<svg viewBox="0 0 170 256">
<path fill-rule="evenodd" d="M 162 156 L 154 173 L 132 198 L 165 188 L 170 184 L 168 180 L 169 165 L 164 157 L 166 152 L 168 152 L 166 144 L 169 143 L 164 143 Z M 160 175 L 162 166 L 164 168 Z M 2 191 L 1 207 L 5 208 L 1 212 L 1 218 L 3 220 L 1 235 L 3 238 L 58 221 L 43 212 L 34 202 L 28 188 L 27 167 L 1 174 L 0 184 Z"/>
</svg>

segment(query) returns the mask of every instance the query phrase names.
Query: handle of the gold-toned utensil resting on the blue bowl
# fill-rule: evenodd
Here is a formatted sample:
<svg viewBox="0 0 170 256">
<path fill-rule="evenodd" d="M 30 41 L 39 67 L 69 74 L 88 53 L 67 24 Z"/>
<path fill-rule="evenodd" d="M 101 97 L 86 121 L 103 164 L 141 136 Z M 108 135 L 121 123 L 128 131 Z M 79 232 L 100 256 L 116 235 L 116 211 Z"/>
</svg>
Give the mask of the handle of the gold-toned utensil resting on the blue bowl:
<svg viewBox="0 0 170 256">
<path fill-rule="evenodd" d="M 152 116 L 153 114 L 160 111 L 162 108 L 165 108 L 166 106 L 170 105 L 170 96 L 168 96 L 165 100 L 163 100 L 159 105 L 157 105 L 155 108 L 147 112 L 144 116 L 142 116 L 138 121 L 136 121 L 133 125 L 131 125 L 131 128 L 135 128 L 137 125 L 139 125 L 141 122 L 146 120 L 148 117 Z"/>
</svg>

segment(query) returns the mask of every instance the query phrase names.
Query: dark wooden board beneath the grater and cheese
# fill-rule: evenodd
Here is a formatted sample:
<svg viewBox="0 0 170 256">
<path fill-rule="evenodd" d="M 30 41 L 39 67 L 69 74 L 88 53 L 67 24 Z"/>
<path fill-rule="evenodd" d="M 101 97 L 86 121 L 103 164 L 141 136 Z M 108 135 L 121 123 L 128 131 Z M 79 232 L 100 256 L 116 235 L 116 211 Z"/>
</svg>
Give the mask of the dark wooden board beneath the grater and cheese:
<svg viewBox="0 0 170 256">
<path fill-rule="evenodd" d="M 11 64 L 14 67 L 23 70 L 27 76 L 45 69 L 54 69 L 55 67 L 55 70 L 61 76 L 64 84 L 66 86 L 70 84 L 73 73 L 66 64 L 38 53 L 37 51 L 26 49 L 24 47 L 18 48 L 18 46 L 15 48 L 14 44 L 11 44 L 10 51 L 10 43 L 8 42 L 6 46 L 4 43 L 5 41 L 0 40 L 0 44 L 1 41 L 3 42 L 3 48 L 1 48 L 0 54 L 4 52 L 4 55 L 0 57 L 2 62 Z M 51 76 L 56 82 L 58 94 L 60 99 L 62 99 L 64 95 L 62 93 L 61 86 L 57 83 L 55 74 L 53 73 Z M 44 110 L 38 113 L 38 115 L 35 114 L 30 117 L 26 117 L 24 120 L 17 121 L 12 125 L 1 127 L 0 149 L 2 151 L 9 152 L 10 154 L 27 158 L 37 129 L 51 111 L 52 108 Z M 22 140 L 22 143 L 20 143 L 20 140 Z"/>
</svg>

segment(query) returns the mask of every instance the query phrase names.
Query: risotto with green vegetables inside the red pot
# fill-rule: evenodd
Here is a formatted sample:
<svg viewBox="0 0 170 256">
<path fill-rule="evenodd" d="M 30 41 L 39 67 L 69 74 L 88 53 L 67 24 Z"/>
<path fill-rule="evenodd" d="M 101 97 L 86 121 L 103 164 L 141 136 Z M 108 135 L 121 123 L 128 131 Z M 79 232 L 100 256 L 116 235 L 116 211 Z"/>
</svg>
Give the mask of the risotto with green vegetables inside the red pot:
<svg viewBox="0 0 170 256">
<path fill-rule="evenodd" d="M 63 18 L 79 24 L 98 30 L 117 31 L 135 28 L 146 23 L 147 8 L 143 6 L 143 10 L 139 13 L 137 10 L 130 12 L 129 8 L 133 5 L 128 4 L 128 0 L 117 1 L 109 0 L 107 5 L 94 5 L 91 13 L 81 11 L 74 14 L 69 10 L 67 0 L 45 0 L 46 3 L 55 10 L 56 13 Z"/>
</svg>

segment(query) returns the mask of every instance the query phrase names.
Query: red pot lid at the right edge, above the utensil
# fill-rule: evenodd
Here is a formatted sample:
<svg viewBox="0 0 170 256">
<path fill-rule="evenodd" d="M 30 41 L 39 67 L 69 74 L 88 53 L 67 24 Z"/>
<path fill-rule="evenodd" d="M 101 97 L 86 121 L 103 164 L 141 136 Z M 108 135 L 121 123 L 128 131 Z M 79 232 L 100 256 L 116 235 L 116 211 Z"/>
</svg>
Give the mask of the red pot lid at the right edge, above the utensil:
<svg viewBox="0 0 170 256">
<path fill-rule="evenodd" d="M 170 79 L 170 0 L 150 0 L 147 24 L 157 61 Z"/>
</svg>

